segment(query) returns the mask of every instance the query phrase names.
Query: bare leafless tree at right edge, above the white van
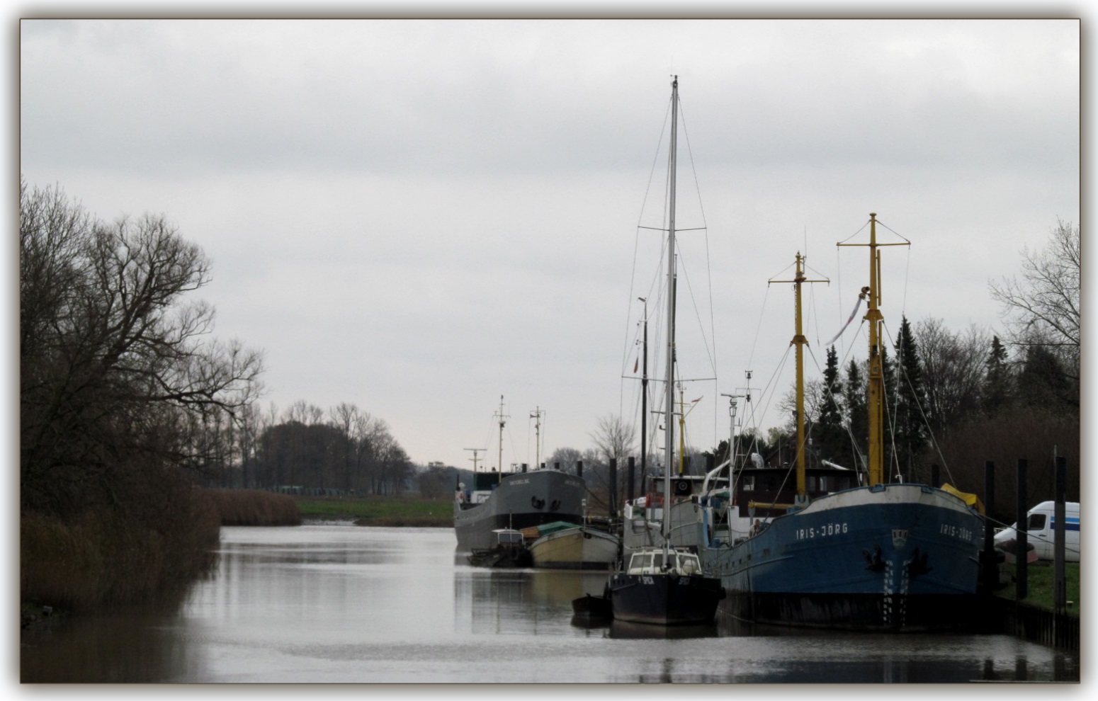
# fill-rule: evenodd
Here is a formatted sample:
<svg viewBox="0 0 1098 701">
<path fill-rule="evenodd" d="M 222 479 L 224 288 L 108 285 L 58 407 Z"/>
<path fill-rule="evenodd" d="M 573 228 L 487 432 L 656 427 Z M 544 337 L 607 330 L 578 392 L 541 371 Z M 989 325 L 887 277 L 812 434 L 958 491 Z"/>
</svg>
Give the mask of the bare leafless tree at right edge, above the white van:
<svg viewBox="0 0 1098 701">
<path fill-rule="evenodd" d="M 1074 380 L 1079 376 L 1080 268 L 1079 227 L 1057 219 L 1043 250 L 1022 250 L 1020 280 L 990 283 L 1010 324 L 1011 342 L 1047 347 L 1066 362 Z"/>
</svg>

